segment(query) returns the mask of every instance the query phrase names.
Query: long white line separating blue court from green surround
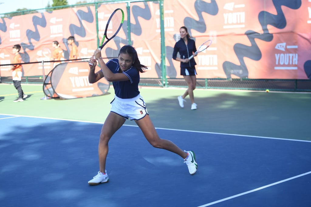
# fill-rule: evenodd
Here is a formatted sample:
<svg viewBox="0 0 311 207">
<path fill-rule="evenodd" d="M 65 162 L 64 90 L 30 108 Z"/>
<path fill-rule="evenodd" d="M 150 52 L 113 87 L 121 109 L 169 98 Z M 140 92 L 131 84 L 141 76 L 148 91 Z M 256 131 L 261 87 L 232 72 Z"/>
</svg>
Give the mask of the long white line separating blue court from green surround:
<svg viewBox="0 0 311 207">
<path fill-rule="evenodd" d="M 26 116 L 26 115 L 12 115 L 12 114 L 0 114 L 0 115 L 14 116 L 14 117 L 7 117 L 7 118 L 30 117 L 30 118 L 38 118 L 38 119 L 52 119 L 52 120 L 63 120 L 63 121 L 75 121 L 75 122 L 84 122 L 84 123 L 104 124 L 104 122 L 81 121 L 81 120 L 72 120 L 72 119 L 57 119 L 57 118 L 48 118 L 48 117 L 40 117 L 40 116 Z M 2 118 L 2 119 L 5 119 L 5 118 Z M 123 126 L 138 127 L 137 125 L 129 125 L 129 124 L 123 124 Z M 158 127 L 155 127 L 155 128 L 156 129 L 162 129 L 162 130 L 180 131 L 180 132 L 220 134 L 220 135 L 230 135 L 230 136 L 239 136 L 239 137 L 255 137 L 255 138 L 264 138 L 264 139 L 278 139 L 278 140 L 285 140 L 285 141 L 295 141 L 295 142 L 311 142 L 311 141 L 308 141 L 308 140 L 299 140 L 299 139 L 284 139 L 284 138 L 276 138 L 276 137 L 260 137 L 260 136 L 252 136 L 252 135 L 216 133 L 216 132 L 202 132 L 202 131 L 192 131 L 192 130 L 183 130 L 183 129 L 170 129 L 170 128 L 158 128 Z"/>
</svg>

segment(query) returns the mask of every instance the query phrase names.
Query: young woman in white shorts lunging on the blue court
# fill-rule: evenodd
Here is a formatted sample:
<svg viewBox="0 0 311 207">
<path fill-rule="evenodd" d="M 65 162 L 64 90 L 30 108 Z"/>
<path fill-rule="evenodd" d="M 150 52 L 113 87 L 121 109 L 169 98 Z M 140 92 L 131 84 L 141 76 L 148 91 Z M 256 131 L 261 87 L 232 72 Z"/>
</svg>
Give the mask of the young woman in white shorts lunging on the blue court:
<svg viewBox="0 0 311 207">
<path fill-rule="evenodd" d="M 101 70 L 95 73 L 96 60 L 100 64 Z M 142 65 L 137 57 L 134 47 L 125 45 L 120 49 L 118 59 L 112 59 L 106 64 L 101 57 L 101 52 L 97 49 L 90 61 L 89 82 L 95 83 L 105 77 L 113 83 L 115 96 L 111 102 L 110 113 L 107 116 L 100 133 L 98 155 L 99 172 L 88 183 L 98 185 L 108 182 L 108 174 L 105 169 L 108 154 L 108 142 L 112 135 L 124 124 L 126 119 L 136 122 L 147 141 L 156 148 L 165 149 L 181 156 L 188 166 L 190 174 L 197 171 L 197 163 L 193 151 L 182 151 L 173 142 L 160 139 L 151 119 L 148 115 L 146 104 L 138 90 L 139 72 L 147 67 Z"/>
</svg>

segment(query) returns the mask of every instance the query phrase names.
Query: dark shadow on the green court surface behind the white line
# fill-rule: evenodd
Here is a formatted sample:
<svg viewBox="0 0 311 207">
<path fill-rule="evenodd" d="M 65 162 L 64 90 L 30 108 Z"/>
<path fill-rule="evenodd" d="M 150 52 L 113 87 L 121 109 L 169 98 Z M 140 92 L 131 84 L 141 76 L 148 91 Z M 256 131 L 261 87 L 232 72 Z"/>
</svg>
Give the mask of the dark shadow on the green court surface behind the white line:
<svg viewBox="0 0 311 207">
<path fill-rule="evenodd" d="M 160 95 L 156 101 L 144 99 L 154 125 L 159 128 L 311 141 L 308 124 L 311 96 L 272 92 L 205 93 L 209 97 L 195 97 L 197 110 L 190 109 L 188 97 L 184 108 L 179 107 L 177 96 Z M 127 124 L 135 125 L 130 121 Z"/>
</svg>

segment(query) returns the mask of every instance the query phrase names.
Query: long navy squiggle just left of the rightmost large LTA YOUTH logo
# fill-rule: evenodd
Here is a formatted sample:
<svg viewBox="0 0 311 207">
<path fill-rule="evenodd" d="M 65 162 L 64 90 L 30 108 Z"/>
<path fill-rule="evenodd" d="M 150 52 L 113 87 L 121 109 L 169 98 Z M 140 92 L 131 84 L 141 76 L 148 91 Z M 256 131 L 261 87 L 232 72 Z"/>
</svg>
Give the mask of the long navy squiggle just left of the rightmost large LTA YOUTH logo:
<svg viewBox="0 0 311 207">
<path fill-rule="evenodd" d="M 262 57 L 262 53 L 255 42 L 255 39 L 260 39 L 266 42 L 270 42 L 273 39 L 273 34 L 270 34 L 267 26 L 272 25 L 278 29 L 283 29 L 286 26 L 286 19 L 282 11 L 281 6 L 289 7 L 291 9 L 298 9 L 301 6 L 301 0 L 272 0 L 274 7 L 276 8 L 276 15 L 273 15 L 267 11 L 261 11 L 258 14 L 258 20 L 262 26 L 263 34 L 248 30 L 245 32 L 251 46 L 246 46 L 240 43 L 234 45 L 233 49 L 236 56 L 239 59 L 241 65 L 235 65 L 229 61 L 223 63 L 223 69 L 228 79 L 231 78 L 231 74 L 234 74 L 240 78 L 248 77 L 248 70 L 244 62 L 244 57 L 248 57 L 252 60 L 258 61 Z"/>
</svg>

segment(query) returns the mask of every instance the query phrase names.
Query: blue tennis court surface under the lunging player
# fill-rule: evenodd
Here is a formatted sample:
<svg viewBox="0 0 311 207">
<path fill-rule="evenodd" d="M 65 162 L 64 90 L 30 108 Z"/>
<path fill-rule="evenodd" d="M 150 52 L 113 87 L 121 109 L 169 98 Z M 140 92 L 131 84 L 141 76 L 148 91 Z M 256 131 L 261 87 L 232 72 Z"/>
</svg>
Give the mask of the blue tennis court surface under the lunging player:
<svg viewBox="0 0 311 207">
<path fill-rule="evenodd" d="M 98 171 L 102 123 L 0 115 L 1 206 L 311 206 L 310 141 L 157 128 L 196 153 L 153 148 L 124 125 L 109 142 L 110 181 Z"/>
</svg>

